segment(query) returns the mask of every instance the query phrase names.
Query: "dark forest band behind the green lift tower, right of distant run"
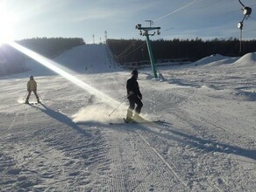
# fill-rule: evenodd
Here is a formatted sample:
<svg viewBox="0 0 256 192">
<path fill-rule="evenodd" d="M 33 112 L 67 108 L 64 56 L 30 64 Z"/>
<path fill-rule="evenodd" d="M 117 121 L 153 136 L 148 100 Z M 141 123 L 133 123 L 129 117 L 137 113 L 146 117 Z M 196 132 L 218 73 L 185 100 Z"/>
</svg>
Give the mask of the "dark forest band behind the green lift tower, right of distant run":
<svg viewBox="0 0 256 192">
<path fill-rule="evenodd" d="M 118 63 L 149 60 L 146 40 L 140 39 L 108 39 L 107 45 Z M 240 52 L 240 41 L 238 38 L 213 39 L 203 41 L 196 39 L 153 40 L 151 41 L 153 57 L 158 59 L 189 58 L 196 60 L 221 54 L 224 56 L 237 57 L 248 52 L 256 51 L 256 40 L 243 40 Z"/>
</svg>

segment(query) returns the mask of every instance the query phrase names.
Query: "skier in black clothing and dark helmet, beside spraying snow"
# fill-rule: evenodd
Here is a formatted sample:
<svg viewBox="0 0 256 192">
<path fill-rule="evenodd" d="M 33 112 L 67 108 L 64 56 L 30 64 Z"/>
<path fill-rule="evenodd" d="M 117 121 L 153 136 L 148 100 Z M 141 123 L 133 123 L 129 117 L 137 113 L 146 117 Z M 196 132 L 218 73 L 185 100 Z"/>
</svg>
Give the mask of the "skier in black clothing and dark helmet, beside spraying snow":
<svg viewBox="0 0 256 192">
<path fill-rule="evenodd" d="M 129 108 L 127 110 L 126 121 L 141 120 L 139 116 L 143 103 L 141 102 L 142 94 L 139 91 L 138 70 L 134 68 L 132 70 L 132 78 L 126 82 L 127 99 L 129 99 Z M 135 108 L 135 104 L 137 105 Z M 135 114 L 132 118 L 132 111 L 135 108 Z"/>
</svg>

